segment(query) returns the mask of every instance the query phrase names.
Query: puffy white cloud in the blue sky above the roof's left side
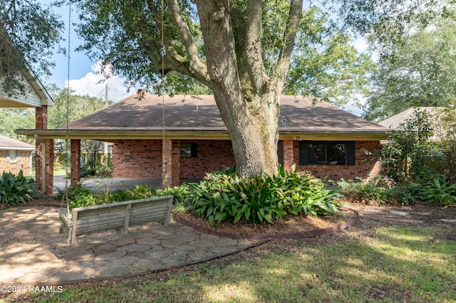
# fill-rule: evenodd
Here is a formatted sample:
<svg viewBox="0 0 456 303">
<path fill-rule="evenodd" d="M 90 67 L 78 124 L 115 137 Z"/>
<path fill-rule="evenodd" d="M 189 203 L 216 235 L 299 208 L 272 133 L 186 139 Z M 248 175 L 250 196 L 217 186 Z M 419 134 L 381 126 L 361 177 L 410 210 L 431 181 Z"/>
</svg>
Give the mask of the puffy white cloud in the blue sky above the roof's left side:
<svg viewBox="0 0 456 303">
<path fill-rule="evenodd" d="M 87 73 L 81 79 L 71 79 L 70 88 L 74 90 L 76 95 L 89 95 L 90 97 L 98 97 L 105 99 L 106 85 L 108 85 L 108 100 L 118 102 L 118 100 L 132 95 L 133 92 L 127 92 L 127 87 L 123 84 L 122 78 L 118 75 L 110 77 L 108 80 L 100 83 L 103 80 L 103 75 L 100 74 L 100 62 L 91 65 L 93 72 Z M 68 86 L 68 81 L 65 81 L 65 87 Z"/>
</svg>

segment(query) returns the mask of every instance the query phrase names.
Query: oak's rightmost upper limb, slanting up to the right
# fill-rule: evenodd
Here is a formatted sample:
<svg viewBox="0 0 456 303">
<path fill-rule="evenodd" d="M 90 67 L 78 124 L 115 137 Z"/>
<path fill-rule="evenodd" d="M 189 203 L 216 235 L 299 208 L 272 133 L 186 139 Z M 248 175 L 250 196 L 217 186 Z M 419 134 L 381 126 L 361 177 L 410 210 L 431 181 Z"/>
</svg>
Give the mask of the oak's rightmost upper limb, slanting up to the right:
<svg viewBox="0 0 456 303">
<path fill-rule="evenodd" d="M 285 82 L 286 74 L 288 73 L 290 67 L 291 53 L 294 48 L 296 32 L 299 28 L 299 21 L 301 21 L 302 4 L 302 0 L 291 1 L 289 19 L 284 33 L 284 44 L 281 47 L 279 60 L 277 62 L 281 83 Z"/>
</svg>

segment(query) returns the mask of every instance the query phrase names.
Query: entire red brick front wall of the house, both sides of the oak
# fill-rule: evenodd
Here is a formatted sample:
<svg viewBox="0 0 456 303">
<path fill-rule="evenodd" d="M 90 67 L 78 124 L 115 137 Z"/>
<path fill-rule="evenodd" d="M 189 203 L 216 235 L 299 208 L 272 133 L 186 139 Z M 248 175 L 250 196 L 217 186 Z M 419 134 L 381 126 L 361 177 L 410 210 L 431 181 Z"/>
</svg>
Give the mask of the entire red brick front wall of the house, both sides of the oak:
<svg viewBox="0 0 456 303">
<path fill-rule="evenodd" d="M 197 143 L 197 157 L 180 158 L 181 143 Z M 288 144 L 289 143 L 289 144 Z M 293 147 L 293 159 L 299 163 L 299 141 L 287 142 L 284 147 Z M 309 171 L 321 179 L 363 179 L 379 174 L 380 164 L 377 159 L 369 161 L 369 156 L 361 149 L 378 152 L 380 143 L 375 141 L 356 142 L 356 165 L 306 165 L 299 166 L 300 171 Z M 172 183 L 175 184 L 177 172 L 182 179 L 200 179 L 206 172 L 217 171 L 235 164 L 232 144 L 228 140 L 172 140 Z M 284 154 L 284 161 L 287 156 Z M 177 161 L 180 159 L 180 161 Z M 113 148 L 114 178 L 162 177 L 162 141 L 161 140 L 123 140 Z"/>
</svg>

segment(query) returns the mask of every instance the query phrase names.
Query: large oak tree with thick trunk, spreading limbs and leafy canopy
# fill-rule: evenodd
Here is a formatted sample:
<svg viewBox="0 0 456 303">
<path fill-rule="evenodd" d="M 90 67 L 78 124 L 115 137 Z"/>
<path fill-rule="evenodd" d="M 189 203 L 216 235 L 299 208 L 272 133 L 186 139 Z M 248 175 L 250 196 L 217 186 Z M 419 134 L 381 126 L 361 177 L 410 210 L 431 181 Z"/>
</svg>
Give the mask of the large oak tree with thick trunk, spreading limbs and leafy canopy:
<svg viewBox="0 0 456 303">
<path fill-rule="evenodd" d="M 81 50 L 102 59 L 105 71 L 132 83 L 174 71 L 206 85 L 227 125 L 238 174 L 276 173 L 279 100 L 306 23 L 302 0 L 75 1 Z M 343 11 L 346 20 L 363 19 L 360 30 L 378 23 L 362 14 L 378 9 L 375 1 L 333 2 L 360 6 Z M 422 1 L 380 2 L 393 8 Z"/>
</svg>

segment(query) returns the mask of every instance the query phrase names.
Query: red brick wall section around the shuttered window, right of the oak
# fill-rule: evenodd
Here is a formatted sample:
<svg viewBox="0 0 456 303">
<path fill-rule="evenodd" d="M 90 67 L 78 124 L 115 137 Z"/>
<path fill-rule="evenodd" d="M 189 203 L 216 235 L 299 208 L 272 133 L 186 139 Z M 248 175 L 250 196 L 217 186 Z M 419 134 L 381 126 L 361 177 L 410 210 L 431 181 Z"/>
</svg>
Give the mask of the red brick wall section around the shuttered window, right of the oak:
<svg viewBox="0 0 456 303">
<path fill-rule="evenodd" d="M 370 179 L 380 174 L 380 162 L 368 156 L 366 151 L 378 154 L 380 142 L 378 141 L 357 141 L 355 143 L 356 165 L 299 165 L 299 141 L 294 142 L 294 161 L 299 171 L 309 171 L 319 179 L 338 181 L 339 179 L 351 180 L 357 176 L 363 179 Z"/>
</svg>

